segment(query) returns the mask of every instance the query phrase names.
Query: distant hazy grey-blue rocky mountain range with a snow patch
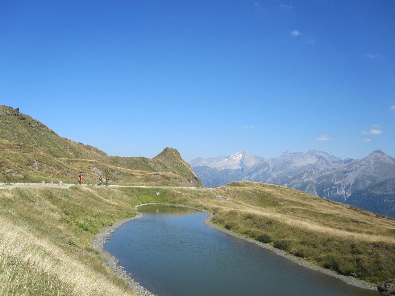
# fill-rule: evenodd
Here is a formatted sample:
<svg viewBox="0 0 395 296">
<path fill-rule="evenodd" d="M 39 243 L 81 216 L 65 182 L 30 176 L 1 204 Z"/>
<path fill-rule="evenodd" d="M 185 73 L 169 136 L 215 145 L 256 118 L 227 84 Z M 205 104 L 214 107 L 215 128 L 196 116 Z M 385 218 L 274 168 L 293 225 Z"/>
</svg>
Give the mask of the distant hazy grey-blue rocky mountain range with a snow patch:
<svg viewBox="0 0 395 296">
<path fill-rule="evenodd" d="M 357 160 L 317 150 L 288 150 L 269 159 L 239 151 L 188 163 L 207 187 L 233 181 L 275 184 L 395 218 L 395 158 L 382 150 Z"/>
</svg>

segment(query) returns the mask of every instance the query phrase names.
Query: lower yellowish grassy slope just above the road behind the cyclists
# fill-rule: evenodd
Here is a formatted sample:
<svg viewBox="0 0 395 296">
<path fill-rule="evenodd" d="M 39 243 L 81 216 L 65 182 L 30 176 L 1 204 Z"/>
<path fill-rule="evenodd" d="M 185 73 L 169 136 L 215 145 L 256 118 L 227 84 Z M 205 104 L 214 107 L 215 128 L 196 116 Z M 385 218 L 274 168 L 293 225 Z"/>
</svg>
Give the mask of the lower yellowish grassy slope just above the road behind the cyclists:
<svg viewBox="0 0 395 296">
<path fill-rule="evenodd" d="M 46 183 L 62 181 L 77 184 L 77 176 L 82 173 L 84 184 L 96 184 L 98 176 L 102 175 L 109 177 L 110 184 L 196 185 L 191 184 L 193 176 L 186 172 L 184 176 L 187 178 L 174 172 L 151 169 L 152 171 L 124 169 L 89 159 L 55 158 L 31 145 L 0 139 L 0 182 L 41 183 L 44 180 Z"/>
</svg>

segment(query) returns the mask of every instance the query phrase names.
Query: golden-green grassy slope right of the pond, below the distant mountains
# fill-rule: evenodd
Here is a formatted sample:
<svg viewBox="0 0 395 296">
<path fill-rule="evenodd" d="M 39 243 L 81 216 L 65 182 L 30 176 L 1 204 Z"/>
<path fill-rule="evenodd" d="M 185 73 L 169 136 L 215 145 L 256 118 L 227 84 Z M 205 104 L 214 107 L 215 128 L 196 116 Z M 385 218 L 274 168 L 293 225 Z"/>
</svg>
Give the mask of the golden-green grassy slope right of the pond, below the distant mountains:
<svg viewBox="0 0 395 296">
<path fill-rule="evenodd" d="M 395 277 L 395 219 L 281 186 L 218 189 L 242 204 L 214 208 L 226 229 L 371 283 Z"/>
</svg>

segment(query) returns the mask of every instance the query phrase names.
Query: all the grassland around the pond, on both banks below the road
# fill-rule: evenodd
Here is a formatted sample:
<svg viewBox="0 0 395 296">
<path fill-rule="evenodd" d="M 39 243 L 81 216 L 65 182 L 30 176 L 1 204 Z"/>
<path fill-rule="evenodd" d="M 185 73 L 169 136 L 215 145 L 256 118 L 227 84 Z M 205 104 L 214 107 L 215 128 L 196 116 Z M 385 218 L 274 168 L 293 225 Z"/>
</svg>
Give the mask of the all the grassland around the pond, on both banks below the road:
<svg viewBox="0 0 395 296">
<path fill-rule="evenodd" d="M 284 187 L 0 187 L 0 295 L 133 295 L 91 240 L 147 202 L 209 210 L 219 226 L 371 283 L 395 277 L 394 219 Z"/>
</svg>

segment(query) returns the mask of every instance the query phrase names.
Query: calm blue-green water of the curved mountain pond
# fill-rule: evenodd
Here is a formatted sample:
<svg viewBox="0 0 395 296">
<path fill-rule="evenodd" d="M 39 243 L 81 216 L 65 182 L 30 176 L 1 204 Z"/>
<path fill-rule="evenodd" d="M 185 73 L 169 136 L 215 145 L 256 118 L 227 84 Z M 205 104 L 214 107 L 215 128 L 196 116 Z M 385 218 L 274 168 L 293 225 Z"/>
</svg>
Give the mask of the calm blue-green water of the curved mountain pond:
<svg viewBox="0 0 395 296">
<path fill-rule="evenodd" d="M 299 266 L 270 250 L 203 224 L 204 212 L 146 205 L 105 251 L 158 296 L 379 296 Z"/>
</svg>

